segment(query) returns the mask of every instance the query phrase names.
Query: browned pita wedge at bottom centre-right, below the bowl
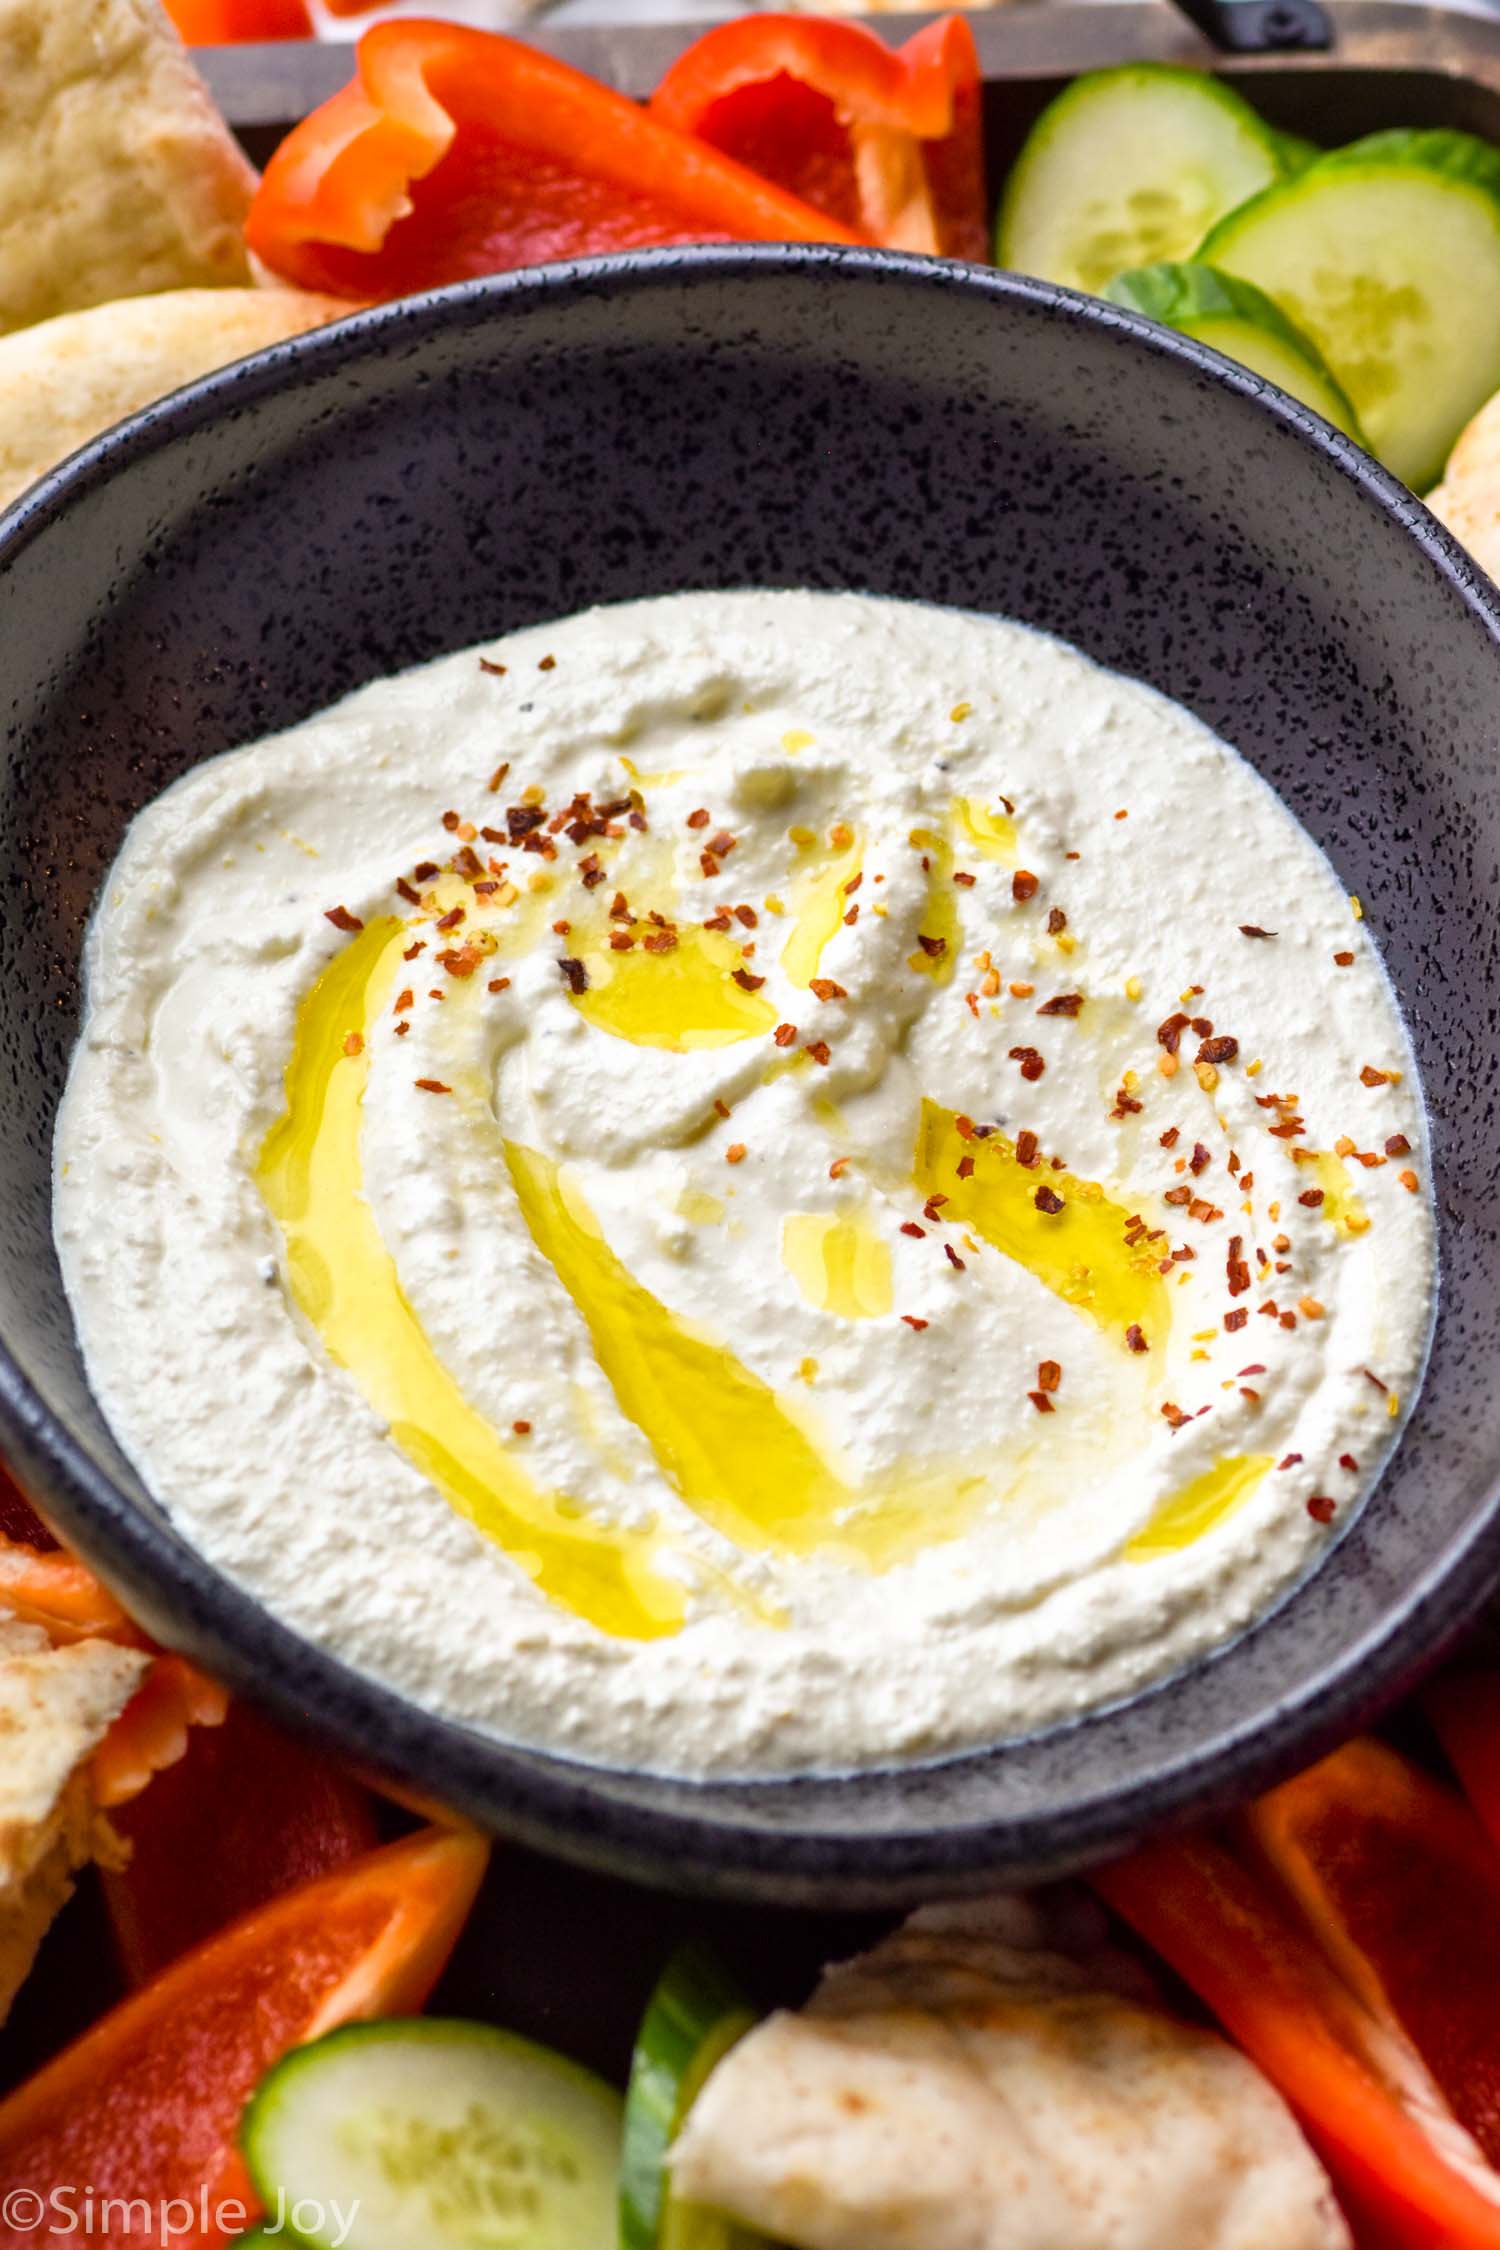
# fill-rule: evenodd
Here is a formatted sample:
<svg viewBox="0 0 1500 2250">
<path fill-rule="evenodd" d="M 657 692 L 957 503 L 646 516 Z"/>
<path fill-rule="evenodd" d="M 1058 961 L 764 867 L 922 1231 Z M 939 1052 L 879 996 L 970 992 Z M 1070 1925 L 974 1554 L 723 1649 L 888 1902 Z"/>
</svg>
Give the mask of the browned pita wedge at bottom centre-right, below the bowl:
<svg viewBox="0 0 1500 2250">
<path fill-rule="evenodd" d="M 832 1969 L 711 2074 L 677 2194 L 796 2250 L 1347 2250 L 1253 2066 L 1048 1935 L 940 1910 Z"/>
</svg>

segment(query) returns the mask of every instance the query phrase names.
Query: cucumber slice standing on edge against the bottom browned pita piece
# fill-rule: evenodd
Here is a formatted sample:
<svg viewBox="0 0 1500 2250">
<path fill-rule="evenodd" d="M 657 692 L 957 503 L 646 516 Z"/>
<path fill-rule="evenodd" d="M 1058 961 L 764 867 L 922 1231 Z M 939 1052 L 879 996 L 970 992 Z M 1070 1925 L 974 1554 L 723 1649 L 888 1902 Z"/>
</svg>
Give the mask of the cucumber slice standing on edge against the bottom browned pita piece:
<svg viewBox="0 0 1500 2250">
<path fill-rule="evenodd" d="M 731 2218 L 672 2196 L 668 2151 L 713 2066 L 756 2023 L 744 1994 L 708 1946 L 688 1944 L 652 1991 L 625 2092 L 621 2250 L 738 2250 Z"/>
</svg>

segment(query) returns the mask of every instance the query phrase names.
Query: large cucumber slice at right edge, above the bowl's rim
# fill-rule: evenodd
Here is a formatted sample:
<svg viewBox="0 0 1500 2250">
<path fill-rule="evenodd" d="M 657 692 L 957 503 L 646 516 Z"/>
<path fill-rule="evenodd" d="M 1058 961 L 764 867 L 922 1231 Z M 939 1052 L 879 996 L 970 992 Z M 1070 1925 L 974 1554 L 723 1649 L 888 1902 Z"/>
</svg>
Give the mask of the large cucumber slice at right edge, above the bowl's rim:
<svg viewBox="0 0 1500 2250">
<path fill-rule="evenodd" d="M 1336 148 L 1230 212 L 1199 256 L 1275 297 L 1419 490 L 1500 389 L 1500 148 L 1469 133 Z"/>
</svg>

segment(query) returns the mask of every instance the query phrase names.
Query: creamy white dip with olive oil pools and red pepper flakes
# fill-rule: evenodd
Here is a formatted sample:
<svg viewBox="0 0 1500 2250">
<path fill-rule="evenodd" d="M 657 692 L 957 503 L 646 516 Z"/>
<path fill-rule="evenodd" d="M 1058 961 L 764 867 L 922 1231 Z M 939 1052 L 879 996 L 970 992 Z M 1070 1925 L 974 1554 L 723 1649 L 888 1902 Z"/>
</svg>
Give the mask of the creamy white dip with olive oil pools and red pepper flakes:
<svg viewBox="0 0 1500 2250">
<path fill-rule="evenodd" d="M 1021 626 L 684 594 L 380 682 L 135 819 L 88 994 L 56 1235 L 121 1444 L 513 1739 L 837 1768 L 1129 1694 L 1419 1379 L 1358 904 Z"/>
</svg>

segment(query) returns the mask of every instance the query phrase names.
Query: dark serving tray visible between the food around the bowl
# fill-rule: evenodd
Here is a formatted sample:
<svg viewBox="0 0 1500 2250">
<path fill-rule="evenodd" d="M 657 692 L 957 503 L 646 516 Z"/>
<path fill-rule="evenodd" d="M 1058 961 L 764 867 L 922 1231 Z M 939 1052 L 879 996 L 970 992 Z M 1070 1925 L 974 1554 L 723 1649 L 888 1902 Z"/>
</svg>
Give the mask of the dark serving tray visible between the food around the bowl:
<svg viewBox="0 0 1500 2250">
<path fill-rule="evenodd" d="M 1221 54 L 1181 14 L 1149 0 L 1048 0 L 974 16 L 992 184 L 1075 72 L 1129 61 L 1214 68 L 1277 128 L 1329 146 L 1385 126 L 1453 126 L 1500 142 L 1500 18 L 1406 0 L 1325 0 L 1325 14 L 1327 50 L 1277 54 Z M 884 16 L 879 32 L 906 38 L 922 20 Z M 643 97 L 699 32 L 702 20 L 535 22 L 526 38 Z M 313 43 L 202 50 L 198 61 L 256 162 L 353 68 L 349 47 Z M 432 2007 L 528 2032 L 618 2079 L 650 1984 L 686 1935 L 715 1942 L 771 2005 L 796 2000 L 821 1960 L 852 1951 L 879 1926 L 873 1917 L 663 1899 L 499 1845 Z M 0 2041 L 0 2088 L 83 2030 L 115 1991 L 103 1915 L 85 1886 L 20 1991 Z"/>
</svg>

